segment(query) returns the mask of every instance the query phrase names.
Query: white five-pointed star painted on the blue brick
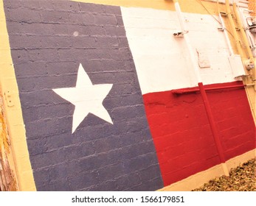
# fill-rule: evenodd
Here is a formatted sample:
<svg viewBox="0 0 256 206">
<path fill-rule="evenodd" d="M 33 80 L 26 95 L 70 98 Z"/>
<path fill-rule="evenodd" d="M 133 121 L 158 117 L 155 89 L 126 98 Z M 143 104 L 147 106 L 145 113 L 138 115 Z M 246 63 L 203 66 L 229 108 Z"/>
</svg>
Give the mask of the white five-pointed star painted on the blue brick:
<svg viewBox="0 0 256 206">
<path fill-rule="evenodd" d="M 55 93 L 75 105 L 72 133 L 89 113 L 113 124 L 103 100 L 112 88 L 112 84 L 92 85 L 83 65 L 80 64 L 75 88 L 52 89 Z"/>
</svg>

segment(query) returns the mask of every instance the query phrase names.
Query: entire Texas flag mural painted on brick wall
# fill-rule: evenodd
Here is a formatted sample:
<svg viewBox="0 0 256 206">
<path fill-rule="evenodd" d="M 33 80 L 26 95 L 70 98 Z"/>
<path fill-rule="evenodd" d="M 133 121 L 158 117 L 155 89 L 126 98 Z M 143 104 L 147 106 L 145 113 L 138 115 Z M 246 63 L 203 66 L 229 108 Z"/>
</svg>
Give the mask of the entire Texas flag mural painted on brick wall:
<svg viewBox="0 0 256 206">
<path fill-rule="evenodd" d="M 197 84 L 175 12 L 48 0 L 4 9 L 38 191 L 156 191 L 221 163 L 200 93 L 172 92 Z M 229 160 L 255 149 L 246 92 L 218 23 L 185 18 Z"/>
</svg>

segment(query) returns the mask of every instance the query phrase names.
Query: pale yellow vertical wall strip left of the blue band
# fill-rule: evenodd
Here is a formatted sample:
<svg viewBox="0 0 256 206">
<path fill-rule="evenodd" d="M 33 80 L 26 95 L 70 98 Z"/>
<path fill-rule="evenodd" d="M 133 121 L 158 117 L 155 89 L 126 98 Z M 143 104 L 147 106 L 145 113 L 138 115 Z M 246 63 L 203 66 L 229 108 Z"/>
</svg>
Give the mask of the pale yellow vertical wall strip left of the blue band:
<svg viewBox="0 0 256 206">
<path fill-rule="evenodd" d="M 13 154 L 12 165 L 18 180 L 18 190 L 35 191 L 2 0 L 0 1 L 0 40 L 0 94 L 4 99 L 4 111 Z"/>
</svg>

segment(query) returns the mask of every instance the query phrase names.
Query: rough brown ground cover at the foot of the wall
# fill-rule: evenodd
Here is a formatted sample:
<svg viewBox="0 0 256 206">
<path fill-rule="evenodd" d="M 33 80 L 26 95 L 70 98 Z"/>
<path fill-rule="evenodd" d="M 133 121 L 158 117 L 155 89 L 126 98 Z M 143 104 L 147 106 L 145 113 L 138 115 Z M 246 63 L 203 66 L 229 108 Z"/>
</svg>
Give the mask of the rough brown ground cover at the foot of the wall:
<svg viewBox="0 0 256 206">
<path fill-rule="evenodd" d="M 193 191 L 256 191 L 256 158 L 229 171 Z"/>
</svg>

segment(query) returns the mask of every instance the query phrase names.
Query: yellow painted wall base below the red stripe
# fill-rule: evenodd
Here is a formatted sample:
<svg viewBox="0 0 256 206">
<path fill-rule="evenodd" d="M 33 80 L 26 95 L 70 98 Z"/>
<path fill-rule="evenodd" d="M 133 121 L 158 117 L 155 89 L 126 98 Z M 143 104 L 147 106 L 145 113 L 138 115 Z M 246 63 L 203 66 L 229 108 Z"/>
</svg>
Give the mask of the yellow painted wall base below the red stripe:
<svg viewBox="0 0 256 206">
<path fill-rule="evenodd" d="M 235 168 L 241 163 L 245 163 L 254 157 L 256 157 L 256 149 L 226 161 L 226 166 L 230 171 L 231 168 Z M 218 166 L 213 166 L 212 168 L 209 168 L 205 171 L 201 171 L 197 174 L 187 177 L 184 180 L 175 182 L 172 185 L 160 189 L 159 191 L 192 191 L 193 189 L 201 187 L 209 180 L 212 180 L 215 177 L 220 177 L 221 175 L 224 175 L 224 171 L 221 164 L 219 164 Z"/>
</svg>

